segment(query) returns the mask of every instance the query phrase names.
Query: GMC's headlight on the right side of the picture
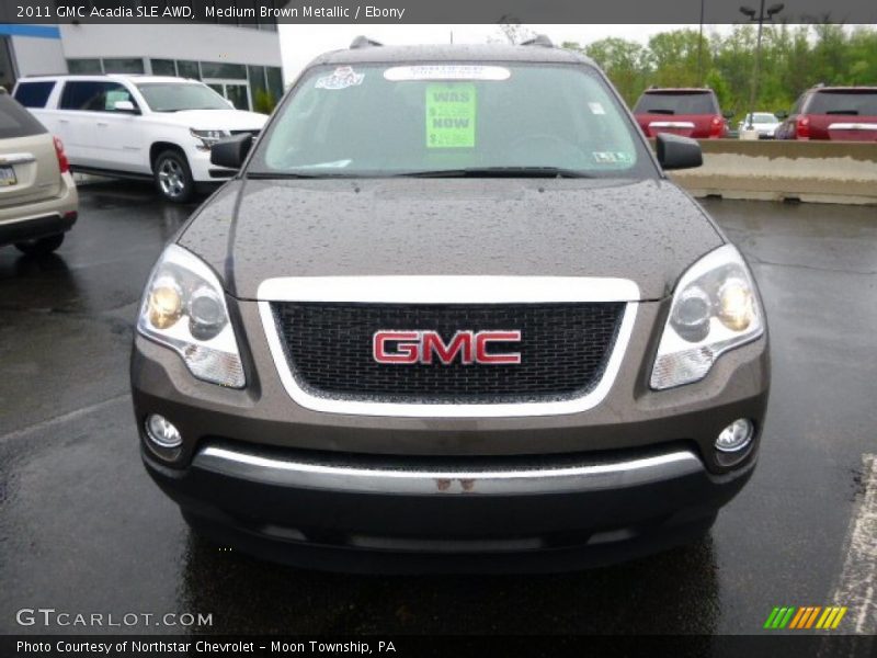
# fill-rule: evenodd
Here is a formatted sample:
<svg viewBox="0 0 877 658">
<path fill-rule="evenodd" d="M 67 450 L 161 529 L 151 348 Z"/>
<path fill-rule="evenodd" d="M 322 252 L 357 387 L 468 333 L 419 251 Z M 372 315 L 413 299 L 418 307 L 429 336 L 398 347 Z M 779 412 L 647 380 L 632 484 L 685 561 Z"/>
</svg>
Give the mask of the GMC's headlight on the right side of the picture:
<svg viewBox="0 0 877 658">
<path fill-rule="evenodd" d="M 703 379 L 722 352 L 764 333 L 764 311 L 743 257 L 725 245 L 680 279 L 664 325 L 651 387 Z"/>
</svg>

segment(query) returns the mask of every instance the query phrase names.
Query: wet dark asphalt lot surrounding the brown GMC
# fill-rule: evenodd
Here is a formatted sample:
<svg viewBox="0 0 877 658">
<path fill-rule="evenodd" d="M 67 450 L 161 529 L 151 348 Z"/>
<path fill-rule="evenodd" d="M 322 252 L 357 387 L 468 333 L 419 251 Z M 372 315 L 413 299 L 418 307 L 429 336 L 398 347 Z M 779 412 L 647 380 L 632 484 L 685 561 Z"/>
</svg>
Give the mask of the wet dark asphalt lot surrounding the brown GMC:
<svg viewBox="0 0 877 658">
<path fill-rule="evenodd" d="M 190 536 L 140 465 L 127 361 L 145 279 L 194 206 L 82 186 L 57 256 L 0 248 L 0 633 L 84 631 L 19 626 L 22 608 L 212 613 L 214 633 L 756 633 L 774 605 L 832 603 L 877 452 L 877 212 L 704 205 L 753 266 L 774 373 L 759 467 L 711 535 L 566 575 L 366 577 Z"/>
</svg>

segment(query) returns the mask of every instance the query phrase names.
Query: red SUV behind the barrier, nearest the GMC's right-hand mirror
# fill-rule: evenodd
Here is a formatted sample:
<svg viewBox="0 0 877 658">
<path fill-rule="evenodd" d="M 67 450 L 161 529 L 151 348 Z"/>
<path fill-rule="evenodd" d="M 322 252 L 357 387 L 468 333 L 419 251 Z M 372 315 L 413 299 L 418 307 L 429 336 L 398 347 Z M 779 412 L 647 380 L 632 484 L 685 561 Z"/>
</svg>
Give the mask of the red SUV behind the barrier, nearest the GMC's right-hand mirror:
<svg viewBox="0 0 877 658">
<path fill-rule="evenodd" d="M 634 115 L 646 137 L 660 133 L 716 139 L 727 136 L 727 118 L 732 112 L 722 114 L 719 101 L 711 89 L 647 89 L 637 104 Z"/>
</svg>

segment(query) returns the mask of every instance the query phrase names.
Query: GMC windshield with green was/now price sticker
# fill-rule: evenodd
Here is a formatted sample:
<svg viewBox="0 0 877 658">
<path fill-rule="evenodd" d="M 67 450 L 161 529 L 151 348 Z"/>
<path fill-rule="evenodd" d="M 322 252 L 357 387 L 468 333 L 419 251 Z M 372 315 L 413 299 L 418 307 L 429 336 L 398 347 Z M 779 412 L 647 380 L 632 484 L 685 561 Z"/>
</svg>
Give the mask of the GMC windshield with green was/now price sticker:
<svg viewBox="0 0 877 658">
<path fill-rule="evenodd" d="M 588 67 L 318 67 L 260 140 L 262 175 L 656 175 Z"/>
</svg>

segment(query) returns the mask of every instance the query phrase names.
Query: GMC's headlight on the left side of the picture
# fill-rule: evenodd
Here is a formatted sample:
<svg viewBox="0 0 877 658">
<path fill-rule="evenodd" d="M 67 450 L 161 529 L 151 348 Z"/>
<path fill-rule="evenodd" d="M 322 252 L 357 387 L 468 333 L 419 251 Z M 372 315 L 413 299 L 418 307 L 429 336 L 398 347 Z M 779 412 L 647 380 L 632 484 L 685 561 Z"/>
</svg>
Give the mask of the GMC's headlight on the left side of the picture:
<svg viewBox="0 0 877 658">
<path fill-rule="evenodd" d="M 232 388 L 246 384 L 223 286 L 182 247 L 169 246 L 156 263 L 137 331 L 175 350 L 198 379 Z"/>
</svg>

